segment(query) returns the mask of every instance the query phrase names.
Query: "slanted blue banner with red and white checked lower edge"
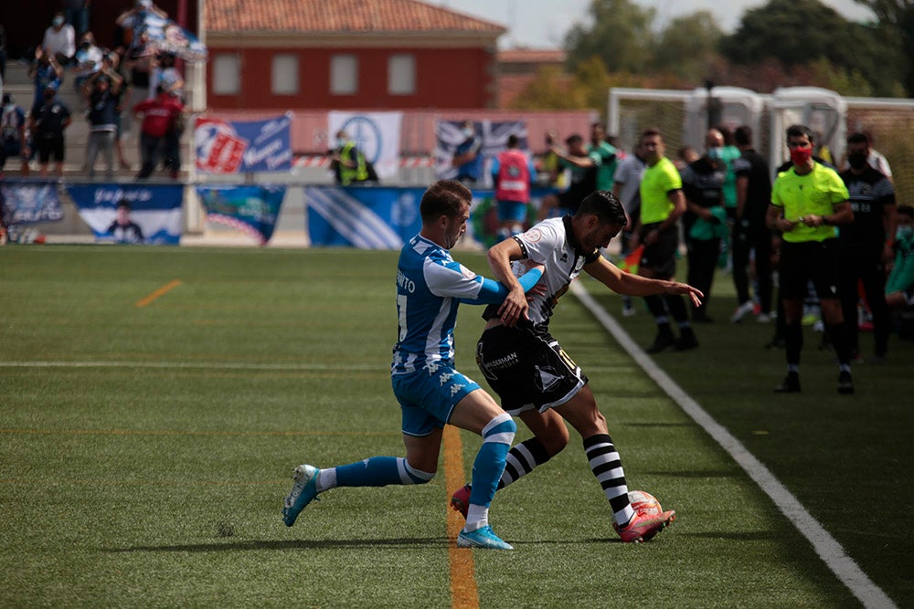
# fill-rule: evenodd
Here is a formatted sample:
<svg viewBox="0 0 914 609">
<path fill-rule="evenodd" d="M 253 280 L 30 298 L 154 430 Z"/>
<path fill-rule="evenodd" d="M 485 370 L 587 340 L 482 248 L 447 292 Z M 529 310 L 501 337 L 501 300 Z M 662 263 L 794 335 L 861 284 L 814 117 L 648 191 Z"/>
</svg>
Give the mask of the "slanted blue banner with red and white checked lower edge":
<svg viewBox="0 0 914 609">
<path fill-rule="evenodd" d="M 207 221 L 230 226 L 264 245 L 273 236 L 285 186 L 197 186 Z"/>
</svg>

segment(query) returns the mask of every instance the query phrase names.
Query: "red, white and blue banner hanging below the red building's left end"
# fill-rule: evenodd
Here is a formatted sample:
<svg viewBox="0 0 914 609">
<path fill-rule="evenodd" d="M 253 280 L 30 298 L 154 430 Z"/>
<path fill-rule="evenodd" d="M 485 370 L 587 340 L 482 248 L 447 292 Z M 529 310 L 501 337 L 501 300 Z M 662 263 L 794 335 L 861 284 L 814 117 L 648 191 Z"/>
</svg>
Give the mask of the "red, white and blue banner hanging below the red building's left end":
<svg viewBox="0 0 914 609">
<path fill-rule="evenodd" d="M 292 169 L 292 116 L 265 121 L 197 118 L 194 148 L 202 173 L 286 172 Z"/>
</svg>

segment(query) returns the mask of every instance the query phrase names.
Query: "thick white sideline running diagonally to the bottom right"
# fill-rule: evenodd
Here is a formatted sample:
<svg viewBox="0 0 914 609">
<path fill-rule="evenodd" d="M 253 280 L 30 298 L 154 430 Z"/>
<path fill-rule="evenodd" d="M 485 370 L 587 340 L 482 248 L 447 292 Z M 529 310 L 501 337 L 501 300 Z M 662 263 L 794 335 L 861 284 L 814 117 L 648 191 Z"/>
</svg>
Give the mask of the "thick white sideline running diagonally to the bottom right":
<svg viewBox="0 0 914 609">
<path fill-rule="evenodd" d="M 694 399 L 683 391 L 663 370 L 657 367 L 654 360 L 645 353 L 632 337 L 622 328 L 618 321 L 614 320 L 597 301 L 590 296 L 587 289 L 580 286 L 578 282 L 571 283 L 571 292 L 580 300 L 593 314 L 600 324 L 612 334 L 612 337 L 622 345 L 622 349 L 632 356 L 632 359 L 638 363 L 648 376 L 654 379 L 654 382 L 660 385 L 660 388 L 666 392 L 676 404 L 685 411 L 686 415 L 692 419 L 711 436 L 717 444 L 723 446 L 730 457 L 739 463 L 749 478 L 755 480 L 756 484 L 768 495 L 781 512 L 793 523 L 793 526 L 799 530 L 803 537 L 813 544 L 813 550 L 822 558 L 823 562 L 829 569 L 834 572 L 837 578 L 844 583 L 857 599 L 866 607 L 897 607 L 892 599 L 873 583 L 866 573 L 847 555 L 841 544 L 832 537 L 818 520 L 813 518 L 798 499 L 793 497 L 791 491 L 785 488 L 781 482 L 774 478 L 768 467 L 765 467 L 759 459 L 754 457 L 739 440 L 727 431 L 727 428 L 720 425 L 708 415 L 704 408 L 701 407 Z"/>
</svg>

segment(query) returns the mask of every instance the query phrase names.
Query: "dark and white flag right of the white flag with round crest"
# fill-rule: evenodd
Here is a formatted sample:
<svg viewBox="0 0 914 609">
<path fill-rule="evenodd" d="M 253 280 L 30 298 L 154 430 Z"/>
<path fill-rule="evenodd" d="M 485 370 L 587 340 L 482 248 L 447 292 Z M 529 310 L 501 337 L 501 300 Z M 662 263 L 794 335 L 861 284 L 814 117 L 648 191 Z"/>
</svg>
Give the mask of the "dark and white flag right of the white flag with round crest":
<svg viewBox="0 0 914 609">
<path fill-rule="evenodd" d="M 462 133 L 463 121 L 438 121 L 435 125 L 437 142 L 435 146 L 435 173 L 441 180 L 452 179 L 457 176 L 457 168 L 452 166 L 454 152 L 465 140 Z M 492 159 L 498 152 L 507 148 L 508 136 L 516 135 L 520 140 L 520 148 L 526 149 L 526 122 L 525 121 L 475 121 L 473 128 L 476 136 L 483 140 L 482 153 L 485 157 L 483 184 L 491 186 L 492 176 L 489 168 Z"/>
</svg>

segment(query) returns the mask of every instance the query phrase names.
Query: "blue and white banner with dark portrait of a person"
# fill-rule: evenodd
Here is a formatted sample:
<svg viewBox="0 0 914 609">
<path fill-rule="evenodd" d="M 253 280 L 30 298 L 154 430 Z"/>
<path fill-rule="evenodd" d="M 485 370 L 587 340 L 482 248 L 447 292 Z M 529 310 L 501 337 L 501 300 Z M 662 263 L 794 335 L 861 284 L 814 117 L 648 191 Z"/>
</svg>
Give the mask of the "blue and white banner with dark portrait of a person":
<svg viewBox="0 0 914 609">
<path fill-rule="evenodd" d="M 99 241 L 157 246 L 181 241 L 181 184 L 74 184 L 67 190 Z"/>
</svg>

